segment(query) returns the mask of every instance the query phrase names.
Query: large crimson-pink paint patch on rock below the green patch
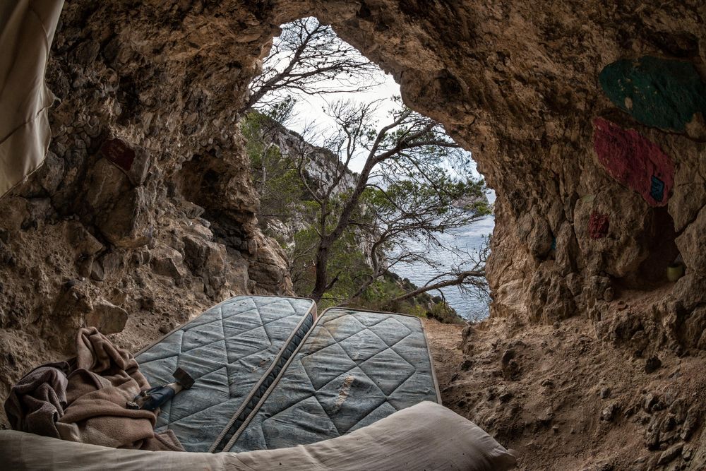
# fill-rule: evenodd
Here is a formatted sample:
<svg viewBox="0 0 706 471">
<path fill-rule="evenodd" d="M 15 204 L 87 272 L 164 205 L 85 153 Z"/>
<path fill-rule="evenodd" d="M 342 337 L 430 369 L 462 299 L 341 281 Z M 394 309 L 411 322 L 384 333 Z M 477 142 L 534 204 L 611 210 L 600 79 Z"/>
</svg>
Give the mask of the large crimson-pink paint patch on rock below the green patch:
<svg viewBox="0 0 706 471">
<path fill-rule="evenodd" d="M 598 161 L 611 177 L 640 193 L 649 205 L 666 205 L 674 186 L 674 163 L 659 145 L 602 118 L 593 125 Z"/>
</svg>

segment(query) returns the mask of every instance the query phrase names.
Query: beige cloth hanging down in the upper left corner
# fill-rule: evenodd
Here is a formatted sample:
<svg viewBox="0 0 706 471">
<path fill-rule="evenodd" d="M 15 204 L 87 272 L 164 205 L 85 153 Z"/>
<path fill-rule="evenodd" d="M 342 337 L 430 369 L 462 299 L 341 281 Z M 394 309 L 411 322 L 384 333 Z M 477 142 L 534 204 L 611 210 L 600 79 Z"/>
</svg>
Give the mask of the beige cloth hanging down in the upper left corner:
<svg viewBox="0 0 706 471">
<path fill-rule="evenodd" d="M 0 196 L 44 162 L 52 131 L 44 85 L 64 0 L 0 1 Z"/>
</svg>

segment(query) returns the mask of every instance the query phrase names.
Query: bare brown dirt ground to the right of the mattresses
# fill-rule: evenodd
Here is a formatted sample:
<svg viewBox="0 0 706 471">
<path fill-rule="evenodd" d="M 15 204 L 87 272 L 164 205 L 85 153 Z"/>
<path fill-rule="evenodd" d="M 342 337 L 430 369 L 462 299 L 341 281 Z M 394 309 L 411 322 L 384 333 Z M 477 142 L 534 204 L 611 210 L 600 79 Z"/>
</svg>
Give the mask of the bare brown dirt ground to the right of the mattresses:
<svg viewBox="0 0 706 471">
<path fill-rule="evenodd" d="M 706 469 L 706 352 L 661 352 L 647 373 L 585 319 L 485 321 L 466 342 L 463 329 L 426 321 L 443 403 L 517 451 L 520 470 Z"/>
</svg>

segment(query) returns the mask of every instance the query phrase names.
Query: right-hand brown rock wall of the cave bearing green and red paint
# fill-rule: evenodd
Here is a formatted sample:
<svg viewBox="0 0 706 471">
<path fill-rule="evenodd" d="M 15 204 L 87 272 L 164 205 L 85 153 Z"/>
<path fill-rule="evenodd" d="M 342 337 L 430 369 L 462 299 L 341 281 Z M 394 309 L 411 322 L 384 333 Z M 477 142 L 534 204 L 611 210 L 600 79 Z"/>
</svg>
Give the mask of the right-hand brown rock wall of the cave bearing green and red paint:
<svg viewBox="0 0 706 471">
<path fill-rule="evenodd" d="M 628 302 L 685 352 L 706 347 L 705 20 L 697 1 L 365 1 L 334 27 L 496 189 L 491 316 L 602 333 Z"/>
</svg>

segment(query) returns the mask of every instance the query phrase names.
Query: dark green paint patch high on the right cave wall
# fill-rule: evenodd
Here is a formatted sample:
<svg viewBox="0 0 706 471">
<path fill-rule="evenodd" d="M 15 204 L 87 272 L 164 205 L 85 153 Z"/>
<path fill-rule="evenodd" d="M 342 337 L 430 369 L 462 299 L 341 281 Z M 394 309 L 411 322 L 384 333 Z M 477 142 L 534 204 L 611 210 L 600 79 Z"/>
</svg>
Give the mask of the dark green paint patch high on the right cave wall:
<svg viewBox="0 0 706 471">
<path fill-rule="evenodd" d="M 621 59 L 605 66 L 599 82 L 616 107 L 645 126 L 688 132 L 706 117 L 706 86 L 690 62 Z"/>
</svg>

